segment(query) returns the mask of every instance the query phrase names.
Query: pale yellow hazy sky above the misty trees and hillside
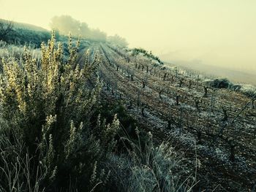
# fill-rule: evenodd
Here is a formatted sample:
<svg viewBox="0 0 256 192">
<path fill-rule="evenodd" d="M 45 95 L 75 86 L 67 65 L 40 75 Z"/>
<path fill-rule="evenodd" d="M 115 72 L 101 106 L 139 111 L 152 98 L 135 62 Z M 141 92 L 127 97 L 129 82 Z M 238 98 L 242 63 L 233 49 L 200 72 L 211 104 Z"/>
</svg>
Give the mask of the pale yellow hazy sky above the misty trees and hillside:
<svg viewBox="0 0 256 192">
<path fill-rule="evenodd" d="M 170 61 L 255 72 L 255 0 L 0 0 L 0 18 L 49 28 L 71 15 Z"/>
</svg>

